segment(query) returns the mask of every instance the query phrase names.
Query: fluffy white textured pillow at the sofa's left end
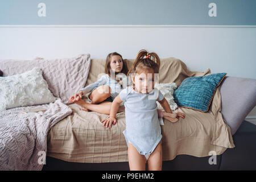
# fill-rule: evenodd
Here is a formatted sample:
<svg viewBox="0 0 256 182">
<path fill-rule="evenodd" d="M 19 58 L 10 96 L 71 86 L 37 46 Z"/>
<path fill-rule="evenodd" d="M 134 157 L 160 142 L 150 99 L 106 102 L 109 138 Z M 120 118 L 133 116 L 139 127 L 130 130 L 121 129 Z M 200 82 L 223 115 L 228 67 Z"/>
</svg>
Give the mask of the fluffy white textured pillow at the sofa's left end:
<svg viewBox="0 0 256 182">
<path fill-rule="evenodd" d="M 13 107 L 54 102 L 40 68 L 19 75 L 0 77 L 0 111 Z"/>
</svg>

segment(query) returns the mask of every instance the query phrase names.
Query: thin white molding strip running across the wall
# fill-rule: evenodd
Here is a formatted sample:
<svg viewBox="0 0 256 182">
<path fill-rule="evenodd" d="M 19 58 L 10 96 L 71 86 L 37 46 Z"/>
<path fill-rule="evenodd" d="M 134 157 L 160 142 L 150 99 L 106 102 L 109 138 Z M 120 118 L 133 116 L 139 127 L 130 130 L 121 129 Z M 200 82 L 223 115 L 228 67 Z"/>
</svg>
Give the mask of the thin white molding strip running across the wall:
<svg viewBox="0 0 256 182">
<path fill-rule="evenodd" d="M 242 26 L 242 25 L 167 25 L 167 24 L 160 24 L 160 25 L 135 25 L 135 24 L 119 24 L 119 25 L 104 25 L 104 24 L 99 24 L 99 25 L 79 25 L 79 24 L 74 24 L 74 25 L 32 25 L 32 24 L 28 24 L 28 25 L 8 25 L 8 24 L 3 24 L 0 25 L 0 28 L 11 28 L 11 27 L 20 27 L 20 28 L 101 28 L 101 27 L 132 27 L 132 28 L 158 28 L 158 27 L 204 27 L 204 28 L 256 28 L 256 26 Z"/>
</svg>

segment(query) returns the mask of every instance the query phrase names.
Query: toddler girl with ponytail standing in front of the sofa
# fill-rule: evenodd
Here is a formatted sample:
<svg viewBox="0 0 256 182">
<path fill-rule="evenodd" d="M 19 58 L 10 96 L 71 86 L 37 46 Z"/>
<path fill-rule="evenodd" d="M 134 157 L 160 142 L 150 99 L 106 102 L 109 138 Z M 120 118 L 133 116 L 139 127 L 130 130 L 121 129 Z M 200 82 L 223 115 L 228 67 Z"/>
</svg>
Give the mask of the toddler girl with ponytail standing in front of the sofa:
<svg viewBox="0 0 256 182">
<path fill-rule="evenodd" d="M 146 58 L 144 58 L 146 56 Z M 133 68 L 128 72 L 133 86 L 123 89 L 112 102 L 110 116 L 104 119 L 103 125 L 115 124 L 119 104 L 125 102 L 126 130 L 123 131 L 128 146 L 128 160 L 131 170 L 162 170 L 162 134 L 156 101 L 166 113 L 172 113 L 170 105 L 163 94 L 154 88 L 158 79 L 160 59 L 156 53 L 139 51 Z M 175 113 L 176 117 L 184 117 Z"/>
</svg>

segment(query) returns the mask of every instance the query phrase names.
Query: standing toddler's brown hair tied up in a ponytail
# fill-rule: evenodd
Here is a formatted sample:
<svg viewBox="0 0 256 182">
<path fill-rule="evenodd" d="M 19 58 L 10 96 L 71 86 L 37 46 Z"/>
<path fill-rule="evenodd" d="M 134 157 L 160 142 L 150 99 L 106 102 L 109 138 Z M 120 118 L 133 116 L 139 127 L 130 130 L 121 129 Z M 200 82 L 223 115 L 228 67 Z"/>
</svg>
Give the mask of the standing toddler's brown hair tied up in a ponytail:
<svg viewBox="0 0 256 182">
<path fill-rule="evenodd" d="M 141 73 L 143 69 L 153 69 L 154 73 L 159 73 L 159 68 L 160 59 L 158 55 L 155 52 L 147 52 L 146 50 L 142 49 L 138 52 L 138 55 L 133 63 L 133 67 L 131 67 L 127 73 L 127 76 L 129 76 L 129 73 L 131 73 L 132 76 L 135 73 Z"/>
</svg>

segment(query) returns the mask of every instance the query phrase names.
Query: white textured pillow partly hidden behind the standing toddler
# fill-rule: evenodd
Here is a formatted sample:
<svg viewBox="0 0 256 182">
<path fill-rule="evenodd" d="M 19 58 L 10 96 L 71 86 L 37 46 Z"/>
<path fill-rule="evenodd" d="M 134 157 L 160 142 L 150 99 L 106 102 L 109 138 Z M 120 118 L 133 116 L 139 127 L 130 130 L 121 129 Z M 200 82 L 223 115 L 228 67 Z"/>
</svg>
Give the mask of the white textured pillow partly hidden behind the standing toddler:
<svg viewBox="0 0 256 182">
<path fill-rule="evenodd" d="M 177 104 L 174 102 L 174 90 L 177 89 L 177 85 L 175 82 L 172 83 L 161 83 L 155 86 L 160 90 L 160 92 L 163 94 L 163 96 L 166 98 L 168 101 L 171 110 L 174 111 L 177 109 Z M 156 102 L 158 105 L 158 109 L 163 109 L 163 107 L 159 104 L 159 102 Z"/>
</svg>

